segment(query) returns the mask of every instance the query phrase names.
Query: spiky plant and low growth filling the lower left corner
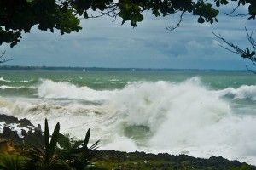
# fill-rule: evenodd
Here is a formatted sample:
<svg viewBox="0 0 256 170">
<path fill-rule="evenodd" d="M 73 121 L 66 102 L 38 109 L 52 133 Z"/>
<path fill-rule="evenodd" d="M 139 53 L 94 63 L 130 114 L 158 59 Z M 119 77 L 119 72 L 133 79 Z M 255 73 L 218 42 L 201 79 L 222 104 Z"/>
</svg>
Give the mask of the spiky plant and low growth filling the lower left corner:
<svg viewBox="0 0 256 170">
<path fill-rule="evenodd" d="M 2 137 L 5 136 L 10 139 L 2 138 L 0 141 L 0 170 L 84 170 L 90 167 L 90 160 L 94 156 L 93 152 L 99 143 L 97 141 L 88 147 L 90 128 L 84 141 L 76 144 L 73 144 L 72 140 L 60 133 L 59 123 L 56 124 L 51 136 L 49 135 L 47 119 L 45 119 L 44 124 L 44 135 L 41 132 L 38 136 L 38 131 L 35 130 L 37 133 L 26 133 L 24 135 L 25 141 L 28 140 L 26 138 L 27 134 L 30 135 L 29 139 L 37 140 L 31 140 L 29 143 L 26 141 L 24 144 L 20 144 L 19 140 L 17 140 L 18 143 L 14 144 L 10 140 L 14 135 L 7 135 L 7 132 L 3 131 Z M 63 148 L 58 147 L 58 143 Z M 69 148 L 66 147 L 67 145 Z"/>
</svg>

